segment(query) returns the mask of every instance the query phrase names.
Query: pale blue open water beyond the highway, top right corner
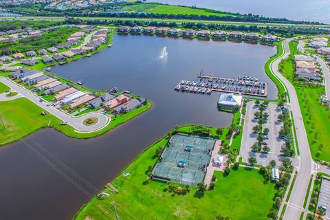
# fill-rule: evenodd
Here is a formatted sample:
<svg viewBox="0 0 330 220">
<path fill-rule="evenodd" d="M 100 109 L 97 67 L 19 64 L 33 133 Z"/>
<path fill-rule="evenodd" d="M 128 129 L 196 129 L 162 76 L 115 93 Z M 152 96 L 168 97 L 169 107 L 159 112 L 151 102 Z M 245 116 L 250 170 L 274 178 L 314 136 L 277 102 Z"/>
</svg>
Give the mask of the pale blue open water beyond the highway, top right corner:
<svg viewBox="0 0 330 220">
<path fill-rule="evenodd" d="M 225 12 L 259 14 L 264 17 L 278 17 L 296 21 L 318 21 L 330 23 L 329 0 L 147 0 L 148 2 L 173 5 L 196 5 Z"/>
</svg>

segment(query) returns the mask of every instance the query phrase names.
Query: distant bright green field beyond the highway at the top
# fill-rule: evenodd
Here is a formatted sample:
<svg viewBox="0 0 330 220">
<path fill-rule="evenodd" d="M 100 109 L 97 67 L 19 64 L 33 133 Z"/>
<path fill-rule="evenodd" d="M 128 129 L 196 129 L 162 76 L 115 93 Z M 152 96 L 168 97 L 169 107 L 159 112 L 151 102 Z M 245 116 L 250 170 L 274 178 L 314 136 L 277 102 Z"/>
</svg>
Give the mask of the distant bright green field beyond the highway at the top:
<svg viewBox="0 0 330 220">
<path fill-rule="evenodd" d="M 203 8 L 188 8 L 177 5 L 163 5 L 159 3 L 138 3 L 122 8 L 128 12 L 149 12 L 154 14 L 194 14 L 194 15 L 214 15 L 214 16 L 234 16 L 232 13 L 217 10 L 207 10 Z"/>
</svg>

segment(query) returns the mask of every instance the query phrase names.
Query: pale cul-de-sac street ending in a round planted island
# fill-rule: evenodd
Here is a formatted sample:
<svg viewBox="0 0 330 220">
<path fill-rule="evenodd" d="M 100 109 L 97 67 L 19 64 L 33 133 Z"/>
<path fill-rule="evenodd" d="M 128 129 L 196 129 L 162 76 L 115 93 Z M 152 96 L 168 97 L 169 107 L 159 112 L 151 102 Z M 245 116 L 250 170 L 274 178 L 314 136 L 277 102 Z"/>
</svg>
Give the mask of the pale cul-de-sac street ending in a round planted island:
<svg viewBox="0 0 330 220">
<path fill-rule="evenodd" d="M 79 132 L 91 132 L 91 131 L 97 131 L 99 129 L 102 129 L 104 126 L 106 126 L 109 122 L 109 118 L 107 118 L 106 115 L 102 115 L 101 113 L 88 113 L 86 115 L 82 115 L 78 118 L 72 118 L 63 111 L 60 111 L 52 106 L 47 106 L 47 102 L 39 102 L 40 98 L 35 96 L 32 92 L 23 89 L 16 83 L 12 83 L 11 80 L 5 77 L 0 77 L 0 82 L 7 85 L 8 87 L 14 89 L 15 91 L 18 91 L 19 94 L 21 94 L 23 97 L 28 98 L 30 101 L 34 102 L 34 104 L 38 104 L 39 107 L 45 109 L 45 111 L 48 111 L 52 113 L 56 118 L 59 118 L 63 122 L 67 122 L 67 124 L 71 125 L 76 129 L 76 131 Z M 83 121 L 87 118 L 98 118 L 98 123 L 86 126 L 83 124 Z"/>
</svg>

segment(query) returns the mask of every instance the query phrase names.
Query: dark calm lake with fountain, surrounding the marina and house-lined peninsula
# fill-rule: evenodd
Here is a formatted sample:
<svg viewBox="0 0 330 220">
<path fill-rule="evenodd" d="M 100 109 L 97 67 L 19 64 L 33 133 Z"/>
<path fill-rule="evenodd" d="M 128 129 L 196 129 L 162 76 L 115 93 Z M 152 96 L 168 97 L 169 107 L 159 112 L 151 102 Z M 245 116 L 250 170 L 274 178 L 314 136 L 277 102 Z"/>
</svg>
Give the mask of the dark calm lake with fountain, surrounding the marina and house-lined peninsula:
<svg viewBox="0 0 330 220">
<path fill-rule="evenodd" d="M 168 58 L 159 59 L 165 46 Z M 1 219 L 71 219 L 88 195 L 176 125 L 230 125 L 232 115 L 216 109 L 219 94 L 174 91 L 180 80 L 194 80 L 201 69 L 217 76 L 259 76 L 270 83 L 269 98 L 276 98 L 264 74 L 265 61 L 275 53 L 275 47 L 265 45 L 116 35 L 113 47 L 54 67 L 54 74 L 82 79 L 92 89 L 131 89 L 151 100 L 153 108 L 89 140 L 43 129 L 0 148 Z"/>
</svg>

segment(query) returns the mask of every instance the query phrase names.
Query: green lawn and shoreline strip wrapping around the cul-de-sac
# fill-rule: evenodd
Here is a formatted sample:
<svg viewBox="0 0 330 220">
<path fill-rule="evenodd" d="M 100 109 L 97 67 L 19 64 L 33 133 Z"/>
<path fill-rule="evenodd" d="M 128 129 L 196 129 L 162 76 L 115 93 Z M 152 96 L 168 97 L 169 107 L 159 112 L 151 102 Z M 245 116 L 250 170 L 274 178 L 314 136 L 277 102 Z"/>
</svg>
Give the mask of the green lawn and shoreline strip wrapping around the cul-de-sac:
<svg viewBox="0 0 330 220">
<path fill-rule="evenodd" d="M 115 116 L 111 118 L 111 122 L 100 131 L 92 133 L 77 133 L 72 126 L 61 125 L 61 120 L 54 115 L 50 113 L 47 113 L 47 115 L 44 116 L 41 115 L 41 112 L 45 110 L 41 109 L 41 107 L 30 102 L 30 100 L 26 98 L 0 102 L 0 115 L 5 124 L 5 129 L 0 131 L 0 145 L 20 140 L 22 137 L 45 127 L 53 127 L 69 137 L 96 137 L 112 130 L 131 118 L 140 115 L 144 111 L 150 109 L 151 106 L 151 102 L 148 102 L 145 106 L 134 109 L 129 113 Z"/>
</svg>

